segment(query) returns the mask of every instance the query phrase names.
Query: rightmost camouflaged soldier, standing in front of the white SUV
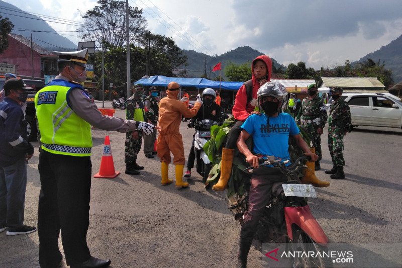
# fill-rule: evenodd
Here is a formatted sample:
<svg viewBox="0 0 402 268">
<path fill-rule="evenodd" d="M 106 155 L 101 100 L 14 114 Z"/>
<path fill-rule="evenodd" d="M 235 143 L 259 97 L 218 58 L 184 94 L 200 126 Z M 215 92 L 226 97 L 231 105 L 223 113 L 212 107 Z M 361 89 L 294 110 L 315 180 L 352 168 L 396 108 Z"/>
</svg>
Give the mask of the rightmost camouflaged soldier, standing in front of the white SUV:
<svg viewBox="0 0 402 268">
<path fill-rule="evenodd" d="M 339 97 L 342 96 L 342 88 L 332 88 L 332 99 L 334 100 L 330 108 L 330 117 L 328 123 L 328 148 L 330 150 L 332 169 L 325 171 L 332 174 L 330 177 L 334 179 L 345 178 L 343 166 L 345 159 L 343 158 L 343 136 L 352 130 L 352 120 L 350 117 L 349 105 Z"/>
</svg>

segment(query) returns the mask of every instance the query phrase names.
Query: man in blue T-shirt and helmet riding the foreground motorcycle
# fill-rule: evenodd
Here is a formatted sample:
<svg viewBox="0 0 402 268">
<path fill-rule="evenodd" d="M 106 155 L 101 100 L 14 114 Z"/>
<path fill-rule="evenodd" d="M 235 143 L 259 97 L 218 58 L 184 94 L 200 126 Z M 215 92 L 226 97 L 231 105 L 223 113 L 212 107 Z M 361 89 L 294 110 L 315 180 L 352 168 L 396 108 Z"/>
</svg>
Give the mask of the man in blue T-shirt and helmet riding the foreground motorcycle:
<svg viewBox="0 0 402 268">
<path fill-rule="evenodd" d="M 280 83 L 267 82 L 263 84 L 258 92 L 258 107 L 264 113 L 254 112 L 243 123 L 243 129 L 237 139 L 239 151 L 246 156 L 246 161 L 254 167 L 253 175 L 250 179 L 249 209 L 244 215 L 244 223 L 240 234 L 240 249 L 238 254 L 238 267 L 246 267 L 247 255 L 261 214 L 268 204 L 271 188 L 275 182 L 285 182 L 285 176 L 277 169 L 267 166 L 258 167 L 258 156 L 273 155 L 282 161 L 289 156 L 289 135 L 296 144 L 305 151 L 306 156 L 310 156 L 313 161 L 318 159 L 318 155 L 310 151 L 309 146 L 299 135 L 294 119 L 282 113 L 282 106 L 286 104 L 286 88 Z M 253 154 L 246 145 L 246 140 L 253 138 Z M 289 163 L 290 164 L 290 163 Z"/>
</svg>

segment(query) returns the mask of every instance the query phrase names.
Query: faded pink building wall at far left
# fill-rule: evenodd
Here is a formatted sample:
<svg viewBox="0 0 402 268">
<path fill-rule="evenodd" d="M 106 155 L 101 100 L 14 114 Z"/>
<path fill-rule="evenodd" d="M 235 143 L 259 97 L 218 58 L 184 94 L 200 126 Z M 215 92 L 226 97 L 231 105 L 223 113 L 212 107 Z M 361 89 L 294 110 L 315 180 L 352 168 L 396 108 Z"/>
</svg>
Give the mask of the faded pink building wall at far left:
<svg viewBox="0 0 402 268">
<path fill-rule="evenodd" d="M 34 52 L 34 76 L 41 77 L 40 54 Z M 9 36 L 9 48 L 0 54 L 0 63 L 18 65 L 18 75 L 32 76 L 31 47 Z"/>
</svg>

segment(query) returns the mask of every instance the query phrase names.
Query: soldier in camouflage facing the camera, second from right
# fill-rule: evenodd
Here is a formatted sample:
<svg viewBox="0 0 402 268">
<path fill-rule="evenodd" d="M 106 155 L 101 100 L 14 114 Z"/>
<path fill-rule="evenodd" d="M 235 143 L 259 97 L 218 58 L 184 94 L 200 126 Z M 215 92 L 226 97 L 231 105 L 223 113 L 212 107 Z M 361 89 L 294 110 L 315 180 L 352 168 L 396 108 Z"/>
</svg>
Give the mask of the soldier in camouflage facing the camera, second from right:
<svg viewBox="0 0 402 268">
<path fill-rule="evenodd" d="M 313 142 L 313 147 L 316 148 L 318 161 L 315 163 L 315 170 L 320 170 L 321 154 L 321 134 L 327 122 L 327 111 L 323 100 L 317 96 L 318 88 L 316 84 L 311 84 L 308 87 L 309 96 L 302 102 L 302 107 L 299 109 L 296 122 L 300 120 L 300 125 L 308 129 L 310 139 Z"/>
</svg>

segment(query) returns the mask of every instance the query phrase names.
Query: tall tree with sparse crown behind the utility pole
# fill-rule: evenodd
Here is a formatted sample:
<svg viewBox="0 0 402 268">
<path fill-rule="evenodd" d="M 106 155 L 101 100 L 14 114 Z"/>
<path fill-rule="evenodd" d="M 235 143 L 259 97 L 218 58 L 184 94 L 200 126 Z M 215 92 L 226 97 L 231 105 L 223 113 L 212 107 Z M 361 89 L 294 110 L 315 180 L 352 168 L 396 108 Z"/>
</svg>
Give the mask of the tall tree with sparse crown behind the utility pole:
<svg viewBox="0 0 402 268">
<path fill-rule="evenodd" d="M 146 29 L 147 21 L 142 10 L 129 7 L 130 44 L 136 43 Z M 84 26 L 78 28 L 81 39 L 96 41 L 100 46 L 105 40 L 111 45 L 126 45 L 126 4 L 116 0 L 98 0 L 97 6 L 84 15 Z"/>
</svg>

